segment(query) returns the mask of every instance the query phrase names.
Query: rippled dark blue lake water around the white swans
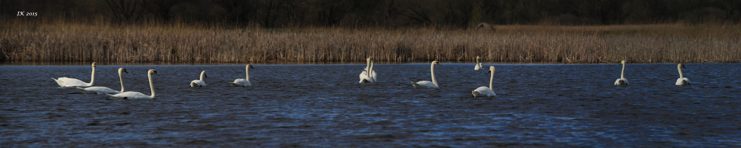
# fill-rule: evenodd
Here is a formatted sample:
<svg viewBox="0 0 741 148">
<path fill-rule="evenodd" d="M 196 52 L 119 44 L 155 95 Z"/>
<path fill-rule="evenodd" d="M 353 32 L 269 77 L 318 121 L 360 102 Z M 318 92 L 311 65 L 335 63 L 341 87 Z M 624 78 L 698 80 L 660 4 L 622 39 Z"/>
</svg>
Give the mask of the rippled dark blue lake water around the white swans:
<svg viewBox="0 0 741 148">
<path fill-rule="evenodd" d="M 686 64 L 694 85 L 674 85 L 676 64 L 496 66 L 496 97 L 473 63 L 255 65 L 253 87 L 233 88 L 245 66 L 123 66 L 127 91 L 112 100 L 61 88 L 49 77 L 90 80 L 90 66 L 0 66 L 0 147 L 741 147 L 741 63 Z M 96 86 L 119 90 L 116 70 Z M 206 70 L 208 87 L 188 83 Z"/>
</svg>

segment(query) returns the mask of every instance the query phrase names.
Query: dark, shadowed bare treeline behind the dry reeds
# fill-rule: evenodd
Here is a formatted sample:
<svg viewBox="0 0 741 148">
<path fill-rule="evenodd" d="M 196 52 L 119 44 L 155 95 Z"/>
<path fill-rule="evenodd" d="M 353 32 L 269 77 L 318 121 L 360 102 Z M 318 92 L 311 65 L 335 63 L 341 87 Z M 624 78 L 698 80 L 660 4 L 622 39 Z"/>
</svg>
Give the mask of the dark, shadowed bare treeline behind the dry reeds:
<svg viewBox="0 0 741 148">
<path fill-rule="evenodd" d="M 259 27 L 473 27 L 741 21 L 738 0 L 20 0 L 5 19 L 192 22 Z M 18 12 L 39 16 L 16 16 Z"/>
</svg>

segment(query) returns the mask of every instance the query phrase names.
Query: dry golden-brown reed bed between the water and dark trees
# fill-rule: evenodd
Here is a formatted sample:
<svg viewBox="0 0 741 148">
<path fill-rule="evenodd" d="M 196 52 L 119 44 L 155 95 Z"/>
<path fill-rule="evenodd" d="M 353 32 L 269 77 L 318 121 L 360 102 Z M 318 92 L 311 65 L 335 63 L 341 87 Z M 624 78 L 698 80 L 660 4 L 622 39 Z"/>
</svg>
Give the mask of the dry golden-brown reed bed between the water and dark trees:
<svg viewBox="0 0 741 148">
<path fill-rule="evenodd" d="M 734 24 L 440 29 L 219 29 L 185 25 L 2 24 L 4 61 L 223 62 L 473 60 L 737 63 Z"/>
</svg>

